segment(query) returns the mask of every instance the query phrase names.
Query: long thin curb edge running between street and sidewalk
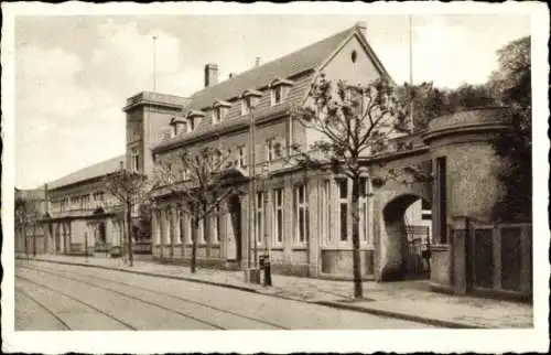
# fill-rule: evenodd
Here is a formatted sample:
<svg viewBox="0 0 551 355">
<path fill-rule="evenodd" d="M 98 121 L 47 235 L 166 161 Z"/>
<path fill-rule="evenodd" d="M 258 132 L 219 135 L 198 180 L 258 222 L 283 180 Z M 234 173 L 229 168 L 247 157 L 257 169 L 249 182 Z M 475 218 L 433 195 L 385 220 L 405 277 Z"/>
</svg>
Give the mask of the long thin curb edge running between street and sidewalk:
<svg viewBox="0 0 551 355">
<path fill-rule="evenodd" d="M 24 258 L 20 258 L 20 257 L 17 257 L 17 259 L 25 260 Z M 148 272 L 148 271 L 136 271 L 136 270 L 107 267 L 107 266 L 102 266 L 102 265 L 90 265 L 90 263 L 84 263 L 84 262 L 71 262 L 71 261 L 47 260 L 47 259 L 32 259 L 32 260 L 40 261 L 40 262 L 51 262 L 51 263 L 58 263 L 58 265 L 80 266 L 80 267 L 86 267 L 86 268 L 121 271 L 121 272 L 143 275 L 143 276 L 150 276 L 150 277 L 156 277 L 156 278 L 165 278 L 165 279 L 172 279 L 172 280 L 190 281 L 190 282 L 223 287 L 223 288 L 227 288 L 227 289 L 234 289 L 234 290 L 239 290 L 239 291 L 244 291 L 244 292 L 256 293 L 256 294 L 261 294 L 261 295 L 267 295 L 267 297 L 272 297 L 272 298 L 278 298 L 278 299 L 284 299 L 284 300 L 289 300 L 289 301 L 295 301 L 295 302 L 302 302 L 302 303 L 309 303 L 309 304 L 318 304 L 318 305 L 324 305 L 324 306 L 328 306 L 328 308 L 333 308 L 333 309 L 341 309 L 341 310 L 368 313 L 368 314 L 374 314 L 374 315 L 379 315 L 379 316 L 393 318 L 393 319 L 417 322 L 417 323 L 423 323 L 423 324 L 429 324 L 429 325 L 434 325 L 434 326 L 440 326 L 440 327 L 487 329 L 484 326 L 472 325 L 472 324 L 467 324 L 467 323 L 443 321 L 443 320 L 423 318 L 423 316 L 407 314 L 407 313 L 391 312 L 391 311 L 378 310 L 378 309 L 372 309 L 372 308 L 363 308 L 363 306 L 345 304 L 345 303 L 339 303 L 339 302 L 305 301 L 305 300 L 294 299 L 294 298 L 290 298 L 290 297 L 285 297 L 285 295 L 281 295 L 281 294 L 267 293 L 267 292 L 262 292 L 262 291 L 259 291 L 259 290 L 256 290 L 252 288 L 242 287 L 242 286 L 237 286 L 237 284 L 231 284 L 231 283 L 222 283 L 222 282 L 215 282 L 215 281 L 208 281 L 208 280 L 201 280 L 201 279 L 194 279 L 194 278 L 186 278 L 186 277 L 181 277 L 181 276 L 162 275 L 162 273 L 154 273 L 154 272 Z"/>
</svg>

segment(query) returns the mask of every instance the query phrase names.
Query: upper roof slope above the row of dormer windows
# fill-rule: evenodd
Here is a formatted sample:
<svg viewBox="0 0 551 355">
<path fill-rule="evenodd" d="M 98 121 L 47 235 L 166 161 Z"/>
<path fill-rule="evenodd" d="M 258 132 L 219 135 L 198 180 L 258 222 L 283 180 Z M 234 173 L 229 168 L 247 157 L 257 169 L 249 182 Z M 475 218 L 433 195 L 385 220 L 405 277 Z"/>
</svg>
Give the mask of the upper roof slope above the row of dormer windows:
<svg viewBox="0 0 551 355">
<path fill-rule="evenodd" d="M 216 99 L 228 100 L 245 89 L 266 86 L 276 78 L 289 78 L 317 67 L 355 30 L 336 33 L 296 52 L 240 73 L 230 79 L 206 87 L 191 97 L 188 109 L 210 107 Z"/>
</svg>

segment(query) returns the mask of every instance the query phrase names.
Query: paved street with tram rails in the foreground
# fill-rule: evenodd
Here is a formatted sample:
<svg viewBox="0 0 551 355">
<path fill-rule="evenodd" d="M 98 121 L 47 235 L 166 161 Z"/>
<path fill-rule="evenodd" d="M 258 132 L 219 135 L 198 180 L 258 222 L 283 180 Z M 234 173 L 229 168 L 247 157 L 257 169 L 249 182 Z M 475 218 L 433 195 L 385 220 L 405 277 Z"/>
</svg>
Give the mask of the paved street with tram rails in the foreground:
<svg viewBox="0 0 551 355">
<path fill-rule="evenodd" d="M 429 325 L 182 280 L 17 262 L 17 330 L 425 329 Z"/>
</svg>

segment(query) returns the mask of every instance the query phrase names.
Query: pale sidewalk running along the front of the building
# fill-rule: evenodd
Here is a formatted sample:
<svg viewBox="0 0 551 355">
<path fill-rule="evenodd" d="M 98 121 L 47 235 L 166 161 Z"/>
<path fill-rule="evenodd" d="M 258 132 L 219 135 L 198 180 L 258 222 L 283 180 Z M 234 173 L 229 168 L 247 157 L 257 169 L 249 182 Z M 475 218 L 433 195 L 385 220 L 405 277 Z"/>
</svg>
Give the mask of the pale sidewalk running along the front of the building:
<svg viewBox="0 0 551 355">
<path fill-rule="evenodd" d="M 348 309 L 445 327 L 526 329 L 533 326 L 532 305 L 472 297 L 454 297 L 432 292 L 426 281 L 364 282 L 365 300 L 353 300 L 350 281 L 333 281 L 272 275 L 273 287 L 244 282 L 241 271 L 197 269 L 134 261 L 133 267 L 121 259 L 101 256 L 68 257 L 42 255 L 36 261 L 76 263 L 89 267 L 116 269 L 126 272 L 182 279 L 223 286 L 248 292 L 269 294 L 302 302 Z"/>
</svg>

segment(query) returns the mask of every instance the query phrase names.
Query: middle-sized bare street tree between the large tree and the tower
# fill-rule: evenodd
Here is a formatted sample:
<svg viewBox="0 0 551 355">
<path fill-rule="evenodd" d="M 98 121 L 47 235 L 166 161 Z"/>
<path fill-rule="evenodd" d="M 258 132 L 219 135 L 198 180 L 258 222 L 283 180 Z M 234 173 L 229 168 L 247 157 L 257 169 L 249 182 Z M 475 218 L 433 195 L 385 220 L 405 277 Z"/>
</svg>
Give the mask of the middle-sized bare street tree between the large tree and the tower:
<svg viewBox="0 0 551 355">
<path fill-rule="evenodd" d="M 197 263 L 199 224 L 203 223 L 203 230 L 207 233 L 207 218 L 217 214 L 223 202 L 234 193 L 234 187 L 224 181 L 224 173 L 231 168 L 229 158 L 229 154 L 207 147 L 196 152 L 185 151 L 175 162 L 164 161 L 158 164 L 159 185 L 177 195 L 182 201 L 184 213 L 192 218 L 193 273 Z"/>
</svg>

